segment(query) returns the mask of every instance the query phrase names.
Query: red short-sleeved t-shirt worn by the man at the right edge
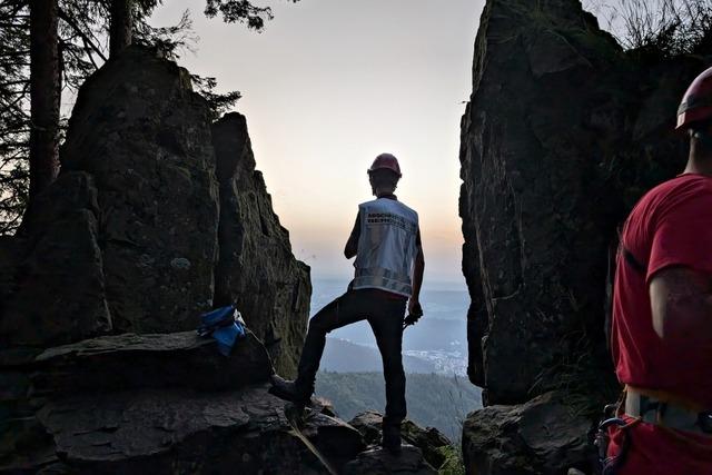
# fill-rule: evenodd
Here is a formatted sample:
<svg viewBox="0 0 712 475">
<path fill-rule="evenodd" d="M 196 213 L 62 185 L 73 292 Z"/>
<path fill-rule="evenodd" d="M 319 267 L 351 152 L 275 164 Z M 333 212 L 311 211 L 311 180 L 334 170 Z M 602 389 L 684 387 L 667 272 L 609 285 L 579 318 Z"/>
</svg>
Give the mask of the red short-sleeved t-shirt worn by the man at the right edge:
<svg viewBox="0 0 712 475">
<path fill-rule="evenodd" d="M 619 380 L 712 408 L 712 352 L 663 342 L 653 329 L 647 287 L 671 266 L 712 277 L 712 178 L 681 175 L 652 189 L 631 212 L 621 244 L 647 270 L 619 254 L 611 335 Z"/>
</svg>

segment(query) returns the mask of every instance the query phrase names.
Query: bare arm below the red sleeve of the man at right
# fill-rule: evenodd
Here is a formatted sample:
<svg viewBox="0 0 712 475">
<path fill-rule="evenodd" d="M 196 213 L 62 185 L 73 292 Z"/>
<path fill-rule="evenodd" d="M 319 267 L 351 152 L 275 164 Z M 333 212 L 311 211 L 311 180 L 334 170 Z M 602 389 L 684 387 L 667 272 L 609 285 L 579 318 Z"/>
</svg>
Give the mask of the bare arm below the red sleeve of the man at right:
<svg viewBox="0 0 712 475">
<path fill-rule="evenodd" d="M 675 346 L 712 346 L 712 276 L 669 267 L 650 281 L 653 328 Z"/>
</svg>

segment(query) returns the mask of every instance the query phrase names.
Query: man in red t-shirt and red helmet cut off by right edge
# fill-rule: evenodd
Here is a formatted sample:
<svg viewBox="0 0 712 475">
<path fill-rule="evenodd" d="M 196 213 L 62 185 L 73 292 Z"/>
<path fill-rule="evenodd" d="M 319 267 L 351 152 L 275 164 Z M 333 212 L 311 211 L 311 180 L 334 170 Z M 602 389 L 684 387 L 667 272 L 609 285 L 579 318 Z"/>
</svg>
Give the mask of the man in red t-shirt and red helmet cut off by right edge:
<svg viewBox="0 0 712 475">
<path fill-rule="evenodd" d="M 712 68 L 678 113 L 688 166 L 637 202 L 621 236 L 612 349 L 625 425 L 607 453 L 620 475 L 712 474 Z"/>
</svg>

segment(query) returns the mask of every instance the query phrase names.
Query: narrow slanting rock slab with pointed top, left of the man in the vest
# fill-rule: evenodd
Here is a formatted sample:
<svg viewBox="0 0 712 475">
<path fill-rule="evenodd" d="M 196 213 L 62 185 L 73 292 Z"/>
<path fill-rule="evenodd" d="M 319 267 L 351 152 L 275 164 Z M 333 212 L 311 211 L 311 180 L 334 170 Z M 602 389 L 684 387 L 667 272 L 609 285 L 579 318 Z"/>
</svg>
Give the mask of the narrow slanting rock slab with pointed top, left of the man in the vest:
<svg viewBox="0 0 712 475">
<path fill-rule="evenodd" d="M 291 257 L 289 234 L 271 210 L 247 133 L 247 121 L 228 113 L 212 126 L 220 187 L 220 259 L 215 303 L 236 303 L 276 365 L 296 368 L 312 285 L 309 268 Z"/>
</svg>

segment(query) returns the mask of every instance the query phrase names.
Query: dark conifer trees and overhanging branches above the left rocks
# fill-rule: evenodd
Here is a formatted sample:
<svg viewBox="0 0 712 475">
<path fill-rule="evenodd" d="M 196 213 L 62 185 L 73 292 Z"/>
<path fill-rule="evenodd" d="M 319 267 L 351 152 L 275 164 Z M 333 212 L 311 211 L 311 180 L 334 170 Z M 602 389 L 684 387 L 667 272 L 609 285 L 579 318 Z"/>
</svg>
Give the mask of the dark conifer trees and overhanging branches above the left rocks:
<svg viewBox="0 0 712 475">
<path fill-rule="evenodd" d="M 204 0 L 194 0 L 197 7 Z M 298 0 L 291 0 L 298 1 Z M 194 42 L 188 13 L 167 28 L 148 22 L 161 0 L 0 0 L 0 235 L 14 232 L 33 196 L 59 171 L 61 112 L 85 79 L 131 43 L 177 58 Z M 269 7 L 205 0 L 205 14 L 261 30 Z M 215 78 L 194 76 L 215 115 L 240 98 L 216 92 Z"/>
</svg>

